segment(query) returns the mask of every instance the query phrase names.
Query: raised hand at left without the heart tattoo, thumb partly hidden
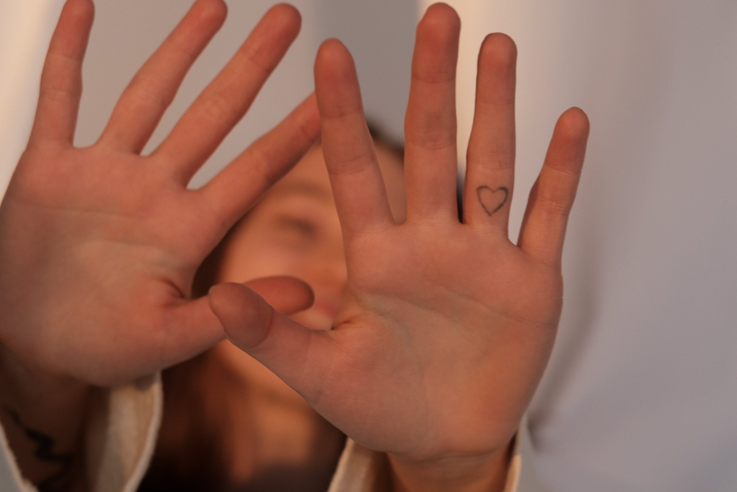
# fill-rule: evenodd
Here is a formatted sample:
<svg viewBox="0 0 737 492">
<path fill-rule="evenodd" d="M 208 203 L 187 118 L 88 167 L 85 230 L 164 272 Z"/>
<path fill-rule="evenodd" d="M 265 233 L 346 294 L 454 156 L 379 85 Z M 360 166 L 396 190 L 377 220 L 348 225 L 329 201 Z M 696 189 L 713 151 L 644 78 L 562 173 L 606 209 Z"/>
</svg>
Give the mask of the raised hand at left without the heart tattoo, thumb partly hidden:
<svg viewBox="0 0 737 492">
<path fill-rule="evenodd" d="M 125 89 L 99 141 L 74 148 L 90 0 L 69 0 L 53 35 L 27 150 L 0 207 L 1 352 L 29 370 L 113 385 L 224 338 L 191 299 L 207 254 L 319 131 L 309 97 L 206 186 L 192 175 L 240 120 L 299 30 L 277 5 L 149 156 L 141 151 L 189 67 L 226 17 L 198 0 Z M 294 279 L 248 284 L 280 311 L 306 308 Z"/>
</svg>

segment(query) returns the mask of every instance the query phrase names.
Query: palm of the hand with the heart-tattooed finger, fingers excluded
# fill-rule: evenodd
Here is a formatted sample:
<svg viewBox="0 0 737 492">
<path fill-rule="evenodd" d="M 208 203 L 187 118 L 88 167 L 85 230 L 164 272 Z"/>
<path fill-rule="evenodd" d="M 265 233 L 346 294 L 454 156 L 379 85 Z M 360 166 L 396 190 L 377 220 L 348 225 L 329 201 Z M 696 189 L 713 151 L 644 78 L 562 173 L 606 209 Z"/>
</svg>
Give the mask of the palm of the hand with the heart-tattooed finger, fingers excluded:
<svg viewBox="0 0 737 492">
<path fill-rule="evenodd" d="M 503 446 L 531 396 L 513 383 L 539 378 L 553 341 L 559 275 L 461 224 L 405 224 L 363 242 L 349 249 L 361 263 L 349 269 L 335 323 L 344 350 L 316 408 L 382 451 L 437 457 Z M 464 418 L 447 418 L 455 413 Z"/>
</svg>

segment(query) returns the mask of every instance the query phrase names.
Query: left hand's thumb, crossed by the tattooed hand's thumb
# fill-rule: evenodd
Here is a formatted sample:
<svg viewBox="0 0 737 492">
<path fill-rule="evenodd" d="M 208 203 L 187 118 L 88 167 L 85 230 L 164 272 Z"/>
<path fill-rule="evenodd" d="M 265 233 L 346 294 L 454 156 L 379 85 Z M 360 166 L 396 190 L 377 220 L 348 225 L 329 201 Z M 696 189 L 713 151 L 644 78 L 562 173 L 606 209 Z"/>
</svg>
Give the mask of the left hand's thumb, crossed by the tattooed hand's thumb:
<svg viewBox="0 0 737 492">
<path fill-rule="evenodd" d="M 310 286 L 294 277 L 266 277 L 245 285 L 286 316 L 310 308 L 315 300 Z M 171 334 L 162 361 L 165 367 L 197 356 L 226 337 L 207 296 L 172 308 L 169 319 Z"/>
</svg>

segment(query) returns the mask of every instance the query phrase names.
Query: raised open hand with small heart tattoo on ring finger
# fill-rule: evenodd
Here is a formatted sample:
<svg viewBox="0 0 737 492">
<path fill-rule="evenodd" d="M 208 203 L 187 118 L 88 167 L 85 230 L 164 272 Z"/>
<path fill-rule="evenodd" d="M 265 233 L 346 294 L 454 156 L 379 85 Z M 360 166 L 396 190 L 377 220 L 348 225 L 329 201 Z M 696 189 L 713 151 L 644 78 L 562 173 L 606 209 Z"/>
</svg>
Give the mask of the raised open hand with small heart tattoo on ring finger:
<svg viewBox="0 0 737 492">
<path fill-rule="evenodd" d="M 417 30 L 404 224 L 388 207 L 349 52 L 326 41 L 318 53 L 322 142 L 349 275 L 333 330 L 307 330 L 263 302 L 254 308 L 240 285 L 216 286 L 210 296 L 232 342 L 349 437 L 405 465 L 492 460 L 517 430 L 561 313 L 563 237 L 588 134 L 581 110 L 559 119 L 520 241 L 511 243 L 516 48 L 506 35 L 489 35 L 459 222 L 459 29 L 455 12 L 438 4 Z"/>
</svg>

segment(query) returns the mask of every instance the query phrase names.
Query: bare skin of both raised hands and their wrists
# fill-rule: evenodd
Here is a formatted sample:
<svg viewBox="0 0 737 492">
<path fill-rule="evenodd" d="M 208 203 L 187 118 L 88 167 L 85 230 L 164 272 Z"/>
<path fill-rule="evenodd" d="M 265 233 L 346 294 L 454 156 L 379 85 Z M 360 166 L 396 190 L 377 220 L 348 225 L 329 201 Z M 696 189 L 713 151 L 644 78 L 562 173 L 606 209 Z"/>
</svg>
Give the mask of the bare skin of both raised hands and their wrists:
<svg viewBox="0 0 737 492">
<path fill-rule="evenodd" d="M 299 26 L 292 7 L 273 7 L 167 139 L 140 156 L 224 16 L 222 1 L 198 0 L 133 79 L 100 141 L 80 149 L 72 136 L 92 6 L 67 1 L 32 136 L 0 206 L 0 403 L 53 436 L 58 451 L 80 456 L 90 385 L 153 373 L 226 335 L 342 432 L 385 452 L 398 491 L 501 490 L 506 450 L 562 308 L 560 258 L 585 114 L 573 108 L 559 119 L 520 242 L 511 243 L 509 200 L 489 215 L 477 195 L 482 186 L 506 187 L 510 199 L 513 191 L 516 50 L 504 35 L 487 37 L 459 223 L 460 22 L 436 4 L 417 29 L 402 224 L 391 214 L 352 59 L 335 40 L 315 62 L 318 108 L 308 98 L 209 184 L 187 190 Z M 307 285 L 287 277 L 222 283 L 191 299 L 201 261 L 310 148 L 317 111 L 346 256 L 334 328 L 284 316 L 312 302 Z M 7 412 L 0 418 L 13 426 Z M 21 434 L 9 439 L 30 479 L 57 471 Z"/>
</svg>

